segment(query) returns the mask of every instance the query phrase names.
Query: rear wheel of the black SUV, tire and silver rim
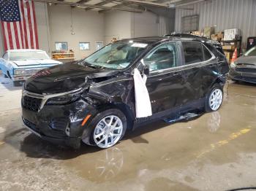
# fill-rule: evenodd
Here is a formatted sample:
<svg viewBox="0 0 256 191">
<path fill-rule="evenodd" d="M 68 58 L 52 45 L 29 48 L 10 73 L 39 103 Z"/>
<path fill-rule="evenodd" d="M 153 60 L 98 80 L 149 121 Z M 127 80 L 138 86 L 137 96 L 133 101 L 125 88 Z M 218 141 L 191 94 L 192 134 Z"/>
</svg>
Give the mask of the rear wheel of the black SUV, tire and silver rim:
<svg viewBox="0 0 256 191">
<path fill-rule="evenodd" d="M 206 96 L 206 112 L 216 112 L 223 101 L 223 88 L 220 85 L 214 85 Z"/>
</svg>

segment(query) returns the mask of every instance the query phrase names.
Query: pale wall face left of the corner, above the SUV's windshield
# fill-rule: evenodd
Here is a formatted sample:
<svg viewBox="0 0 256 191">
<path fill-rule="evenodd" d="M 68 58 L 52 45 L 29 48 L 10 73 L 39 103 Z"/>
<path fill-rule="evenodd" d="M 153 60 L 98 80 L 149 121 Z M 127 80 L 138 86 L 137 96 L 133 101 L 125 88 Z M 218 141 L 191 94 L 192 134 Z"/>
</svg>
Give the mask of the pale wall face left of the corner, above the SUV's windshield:
<svg viewBox="0 0 256 191">
<path fill-rule="evenodd" d="M 126 39 L 132 37 L 131 12 L 110 11 L 104 13 L 105 42 L 111 39 Z"/>
</svg>

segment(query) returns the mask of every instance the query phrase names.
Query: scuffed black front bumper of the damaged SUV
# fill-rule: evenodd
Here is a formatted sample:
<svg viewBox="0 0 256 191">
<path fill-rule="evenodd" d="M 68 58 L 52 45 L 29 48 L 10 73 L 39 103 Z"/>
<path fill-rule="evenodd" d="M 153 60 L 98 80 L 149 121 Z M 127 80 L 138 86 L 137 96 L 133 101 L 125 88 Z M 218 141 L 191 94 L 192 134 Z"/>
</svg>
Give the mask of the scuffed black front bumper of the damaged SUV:
<svg viewBox="0 0 256 191">
<path fill-rule="evenodd" d="M 86 125 L 81 125 L 83 119 L 92 113 L 94 107 L 79 100 L 67 105 L 45 105 L 39 112 L 23 106 L 22 119 L 26 127 L 41 139 L 77 148 L 86 128 Z"/>
</svg>

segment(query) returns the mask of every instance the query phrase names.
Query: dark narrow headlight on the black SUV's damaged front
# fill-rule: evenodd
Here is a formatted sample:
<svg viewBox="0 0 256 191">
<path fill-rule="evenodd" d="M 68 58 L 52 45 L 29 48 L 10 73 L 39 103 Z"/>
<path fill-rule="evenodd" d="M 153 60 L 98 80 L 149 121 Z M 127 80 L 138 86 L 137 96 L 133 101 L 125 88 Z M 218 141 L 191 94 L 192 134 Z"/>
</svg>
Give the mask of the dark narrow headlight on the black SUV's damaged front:
<svg viewBox="0 0 256 191">
<path fill-rule="evenodd" d="M 71 104 L 74 101 L 78 101 L 80 99 L 81 93 L 72 93 L 67 95 L 61 95 L 54 98 L 49 98 L 47 101 L 47 105 L 64 105 Z"/>
</svg>

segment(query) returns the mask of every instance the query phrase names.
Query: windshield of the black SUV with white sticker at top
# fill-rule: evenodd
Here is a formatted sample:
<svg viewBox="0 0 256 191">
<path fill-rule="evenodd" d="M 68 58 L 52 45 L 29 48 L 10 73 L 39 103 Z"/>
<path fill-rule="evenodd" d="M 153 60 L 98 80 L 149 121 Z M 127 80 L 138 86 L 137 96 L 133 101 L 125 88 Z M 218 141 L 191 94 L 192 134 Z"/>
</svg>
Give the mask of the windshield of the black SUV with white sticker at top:
<svg viewBox="0 0 256 191">
<path fill-rule="evenodd" d="M 91 66 L 108 69 L 124 69 L 140 55 L 148 44 L 133 42 L 116 42 L 108 44 L 84 61 Z"/>
</svg>

